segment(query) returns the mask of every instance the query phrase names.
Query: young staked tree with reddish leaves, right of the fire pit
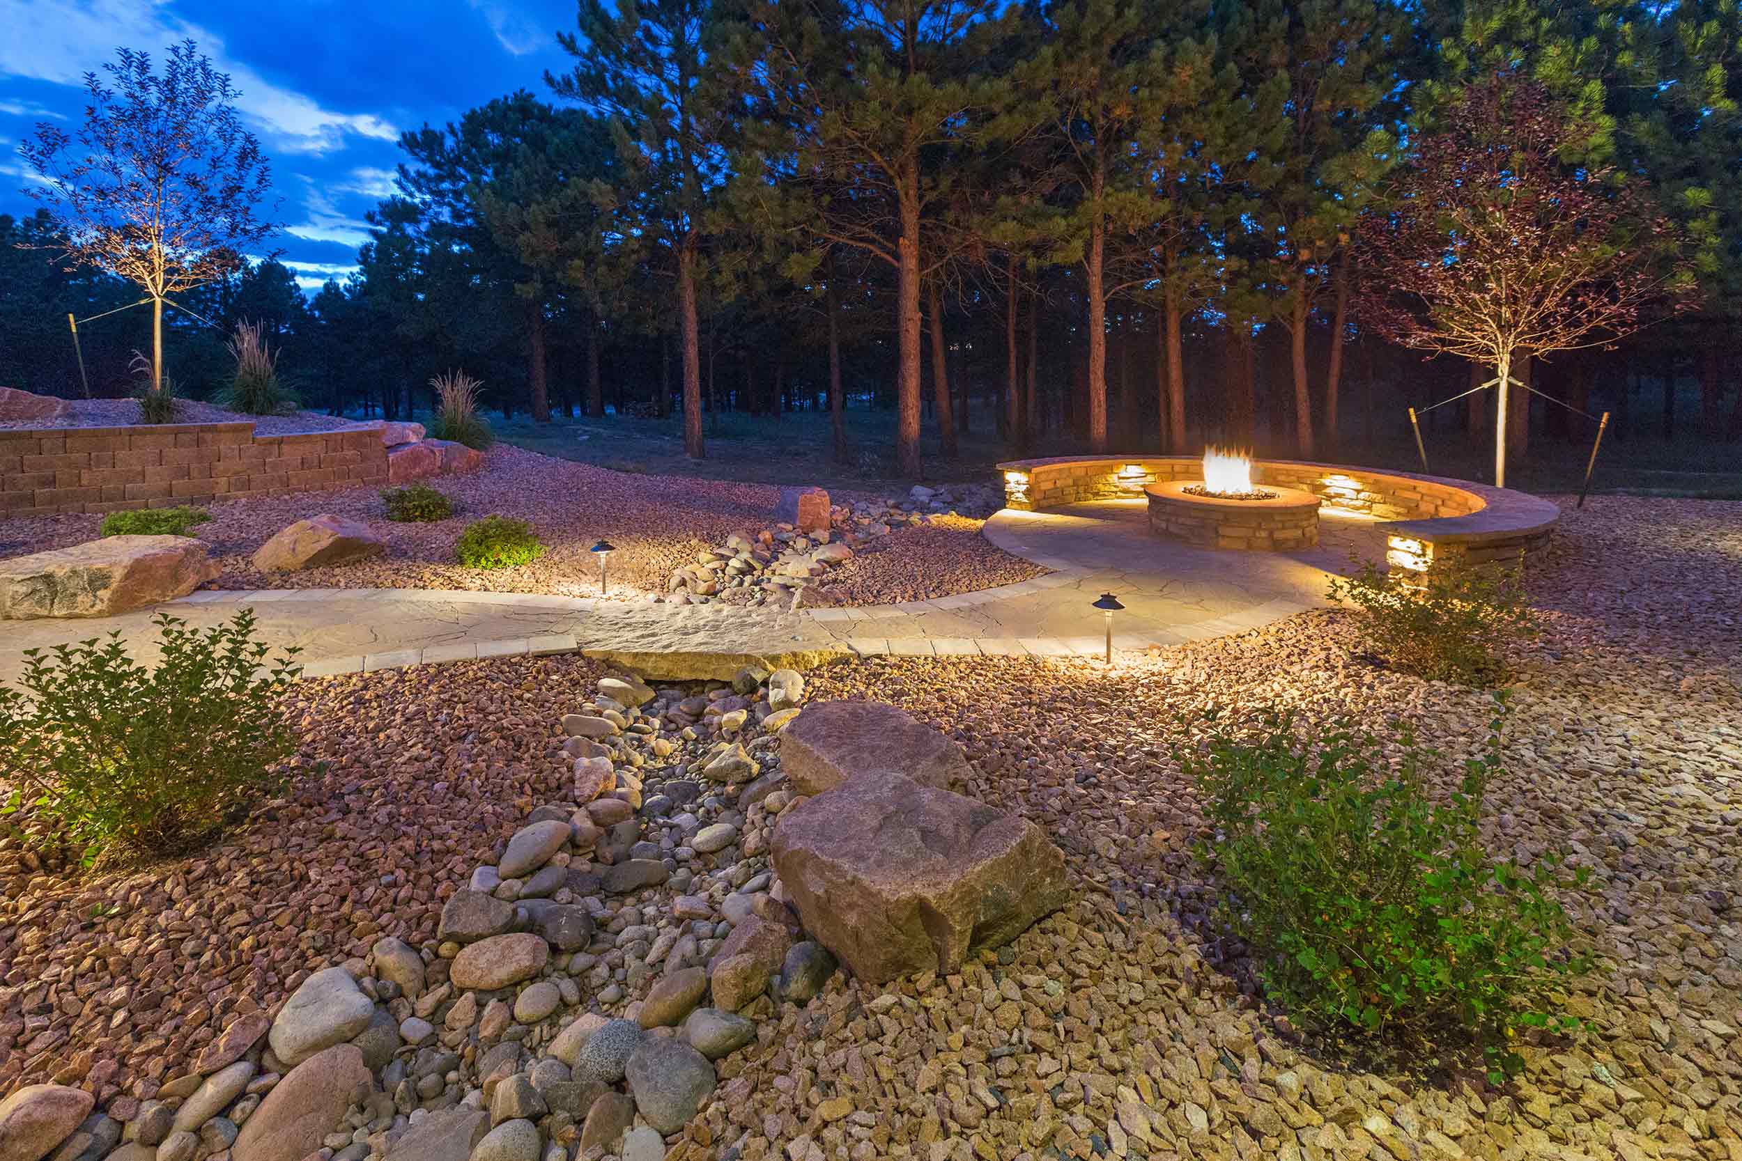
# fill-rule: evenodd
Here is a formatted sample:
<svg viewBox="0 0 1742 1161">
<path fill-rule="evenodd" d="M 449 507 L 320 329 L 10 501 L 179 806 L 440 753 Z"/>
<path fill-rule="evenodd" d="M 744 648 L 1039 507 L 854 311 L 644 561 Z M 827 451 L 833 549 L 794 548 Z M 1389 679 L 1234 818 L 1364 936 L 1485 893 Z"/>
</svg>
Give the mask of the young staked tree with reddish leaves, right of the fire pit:
<svg viewBox="0 0 1742 1161">
<path fill-rule="evenodd" d="M 1366 214 L 1355 259 L 1361 317 L 1395 343 L 1495 367 L 1495 484 L 1507 475 L 1507 406 L 1521 357 L 1611 346 L 1695 301 L 1679 233 L 1608 169 L 1573 167 L 1590 127 L 1536 82 L 1467 89 Z"/>
</svg>

